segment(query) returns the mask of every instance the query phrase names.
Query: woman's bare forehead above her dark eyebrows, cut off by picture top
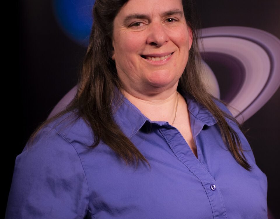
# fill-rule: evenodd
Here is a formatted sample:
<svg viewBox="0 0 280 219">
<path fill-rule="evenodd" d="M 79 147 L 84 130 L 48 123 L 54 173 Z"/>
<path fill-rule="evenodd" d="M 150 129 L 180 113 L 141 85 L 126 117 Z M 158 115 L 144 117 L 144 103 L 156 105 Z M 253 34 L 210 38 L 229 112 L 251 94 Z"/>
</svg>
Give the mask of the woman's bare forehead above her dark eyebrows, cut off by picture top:
<svg viewBox="0 0 280 219">
<path fill-rule="evenodd" d="M 166 15 L 168 11 L 181 11 L 181 0 L 129 0 L 119 11 L 116 18 L 125 18 L 127 15 L 145 14 L 149 16 Z"/>
</svg>

